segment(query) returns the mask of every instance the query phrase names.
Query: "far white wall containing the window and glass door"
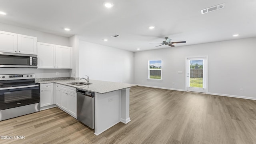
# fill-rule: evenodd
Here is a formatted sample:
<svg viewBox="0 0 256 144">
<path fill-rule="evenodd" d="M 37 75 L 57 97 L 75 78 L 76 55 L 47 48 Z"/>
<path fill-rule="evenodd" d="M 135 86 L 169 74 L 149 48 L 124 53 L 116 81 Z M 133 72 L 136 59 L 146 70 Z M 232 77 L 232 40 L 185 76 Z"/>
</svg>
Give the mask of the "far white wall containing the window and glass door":
<svg viewBox="0 0 256 144">
<path fill-rule="evenodd" d="M 208 56 L 208 93 L 256 99 L 256 38 L 135 52 L 134 83 L 185 90 L 186 57 Z M 162 81 L 147 80 L 148 60 L 162 59 Z M 183 71 L 178 74 L 178 71 Z M 172 84 L 174 82 L 174 84 Z M 244 91 L 240 91 L 244 88 Z"/>
</svg>

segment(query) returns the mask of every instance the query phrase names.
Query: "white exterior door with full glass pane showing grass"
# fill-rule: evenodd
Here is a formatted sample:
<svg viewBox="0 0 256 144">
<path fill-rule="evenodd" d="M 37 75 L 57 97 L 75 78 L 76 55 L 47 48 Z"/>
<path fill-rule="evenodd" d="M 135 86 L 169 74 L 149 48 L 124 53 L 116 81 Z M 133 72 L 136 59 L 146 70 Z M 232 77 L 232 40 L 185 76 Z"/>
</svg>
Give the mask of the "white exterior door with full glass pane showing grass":
<svg viewBox="0 0 256 144">
<path fill-rule="evenodd" d="M 208 57 L 186 59 L 186 90 L 207 93 Z"/>
</svg>

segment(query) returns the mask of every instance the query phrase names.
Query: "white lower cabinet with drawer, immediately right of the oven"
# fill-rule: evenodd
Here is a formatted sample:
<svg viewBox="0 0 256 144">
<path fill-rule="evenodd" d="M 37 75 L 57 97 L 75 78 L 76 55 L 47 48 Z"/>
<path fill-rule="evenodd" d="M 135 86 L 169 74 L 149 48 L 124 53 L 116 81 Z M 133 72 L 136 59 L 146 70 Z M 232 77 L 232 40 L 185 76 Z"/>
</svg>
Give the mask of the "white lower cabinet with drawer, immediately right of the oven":
<svg viewBox="0 0 256 144">
<path fill-rule="evenodd" d="M 40 108 L 53 105 L 53 84 L 41 84 L 40 89 Z"/>
</svg>

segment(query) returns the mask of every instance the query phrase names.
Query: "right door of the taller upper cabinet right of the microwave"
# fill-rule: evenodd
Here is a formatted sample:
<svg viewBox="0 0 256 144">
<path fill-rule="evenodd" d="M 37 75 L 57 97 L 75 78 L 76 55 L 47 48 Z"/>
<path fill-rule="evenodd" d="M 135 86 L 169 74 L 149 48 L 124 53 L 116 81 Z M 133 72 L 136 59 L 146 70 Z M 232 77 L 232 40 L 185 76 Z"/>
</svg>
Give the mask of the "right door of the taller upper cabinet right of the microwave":
<svg viewBox="0 0 256 144">
<path fill-rule="evenodd" d="M 72 48 L 56 45 L 56 68 L 72 68 Z"/>
</svg>

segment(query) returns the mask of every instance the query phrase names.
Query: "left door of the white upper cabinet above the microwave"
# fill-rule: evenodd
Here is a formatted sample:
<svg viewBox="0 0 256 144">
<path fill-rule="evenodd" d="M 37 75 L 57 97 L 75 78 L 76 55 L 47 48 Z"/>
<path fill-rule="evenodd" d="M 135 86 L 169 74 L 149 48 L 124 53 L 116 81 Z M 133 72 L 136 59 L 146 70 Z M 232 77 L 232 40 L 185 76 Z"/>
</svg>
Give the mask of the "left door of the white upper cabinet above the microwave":
<svg viewBox="0 0 256 144">
<path fill-rule="evenodd" d="M 17 53 L 18 34 L 0 31 L 0 52 Z"/>
</svg>

